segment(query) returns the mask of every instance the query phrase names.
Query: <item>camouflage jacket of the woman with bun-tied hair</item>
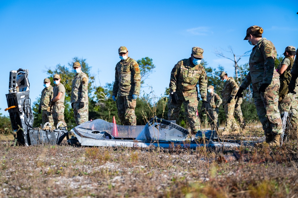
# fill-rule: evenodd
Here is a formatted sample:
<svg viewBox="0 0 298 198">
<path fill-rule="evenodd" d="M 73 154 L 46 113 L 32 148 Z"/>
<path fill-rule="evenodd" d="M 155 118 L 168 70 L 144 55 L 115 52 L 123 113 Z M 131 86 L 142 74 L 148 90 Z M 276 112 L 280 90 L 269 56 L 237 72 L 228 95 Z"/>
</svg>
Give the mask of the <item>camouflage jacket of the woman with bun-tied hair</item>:
<svg viewBox="0 0 298 198">
<path fill-rule="evenodd" d="M 240 87 L 246 89 L 250 83 L 271 84 L 273 78 L 279 77 L 274 68 L 277 53 L 273 43 L 262 38 L 252 48 L 249 57 L 249 72 Z"/>
</svg>

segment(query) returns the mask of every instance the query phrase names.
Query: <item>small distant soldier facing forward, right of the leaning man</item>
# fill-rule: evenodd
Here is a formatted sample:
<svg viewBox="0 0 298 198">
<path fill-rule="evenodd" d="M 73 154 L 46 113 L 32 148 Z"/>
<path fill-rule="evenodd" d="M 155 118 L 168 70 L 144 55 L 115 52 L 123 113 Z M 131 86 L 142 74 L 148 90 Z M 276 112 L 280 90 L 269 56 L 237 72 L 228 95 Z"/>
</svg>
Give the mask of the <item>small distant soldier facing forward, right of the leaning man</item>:
<svg viewBox="0 0 298 198">
<path fill-rule="evenodd" d="M 208 116 L 209 122 L 211 125 L 211 130 L 218 130 L 219 122 L 218 122 L 218 107 L 221 106 L 222 100 L 221 97 L 218 96 L 214 92 L 214 87 L 209 85 L 207 87 L 207 102 L 208 102 Z"/>
</svg>

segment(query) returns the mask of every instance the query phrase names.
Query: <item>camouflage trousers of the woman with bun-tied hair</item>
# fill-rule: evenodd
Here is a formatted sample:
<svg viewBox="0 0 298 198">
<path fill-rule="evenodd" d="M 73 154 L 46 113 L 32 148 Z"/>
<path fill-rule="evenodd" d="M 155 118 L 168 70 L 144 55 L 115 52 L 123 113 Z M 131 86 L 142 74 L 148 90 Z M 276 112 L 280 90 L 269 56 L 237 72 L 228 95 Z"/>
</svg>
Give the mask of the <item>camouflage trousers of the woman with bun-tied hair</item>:
<svg viewBox="0 0 298 198">
<path fill-rule="evenodd" d="M 263 125 L 264 133 L 266 134 L 281 134 L 282 121 L 280 111 L 278 110 L 279 99 L 279 78 L 274 78 L 271 84 L 265 89 L 264 93 L 260 93 L 258 89 L 261 83 L 252 85 L 252 96 L 254 104 L 257 108 L 258 117 Z"/>
</svg>

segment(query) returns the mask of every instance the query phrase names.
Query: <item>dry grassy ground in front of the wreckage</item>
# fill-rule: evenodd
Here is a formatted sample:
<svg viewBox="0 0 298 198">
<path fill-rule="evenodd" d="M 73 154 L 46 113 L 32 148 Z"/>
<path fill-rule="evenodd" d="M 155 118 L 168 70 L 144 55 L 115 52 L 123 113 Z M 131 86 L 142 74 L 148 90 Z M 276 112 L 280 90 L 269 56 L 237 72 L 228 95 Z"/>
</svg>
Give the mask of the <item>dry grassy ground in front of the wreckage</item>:
<svg viewBox="0 0 298 198">
<path fill-rule="evenodd" d="M 257 125 L 257 124 L 255 124 Z M 243 136 L 262 136 L 249 126 Z M 0 197 L 297 197 L 297 141 L 240 148 L 12 146 L 0 136 Z M 238 151 L 239 160 L 218 157 Z"/>
</svg>

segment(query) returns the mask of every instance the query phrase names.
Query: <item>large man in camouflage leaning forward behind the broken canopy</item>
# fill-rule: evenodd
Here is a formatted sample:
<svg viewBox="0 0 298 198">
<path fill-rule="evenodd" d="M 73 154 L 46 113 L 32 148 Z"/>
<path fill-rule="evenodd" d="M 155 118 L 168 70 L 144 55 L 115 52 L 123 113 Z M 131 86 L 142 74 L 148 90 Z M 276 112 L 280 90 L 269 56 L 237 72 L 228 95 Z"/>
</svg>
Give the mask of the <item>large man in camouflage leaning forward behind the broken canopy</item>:
<svg viewBox="0 0 298 198">
<path fill-rule="evenodd" d="M 191 57 L 179 61 L 172 69 L 169 85 L 168 120 L 179 118 L 179 111 L 183 103 L 192 134 L 201 130 L 200 119 L 196 115 L 198 109 L 197 84 L 199 84 L 203 99 L 202 109 L 207 110 L 207 74 L 200 64 L 203 52 L 202 48 L 193 47 Z"/>
</svg>

